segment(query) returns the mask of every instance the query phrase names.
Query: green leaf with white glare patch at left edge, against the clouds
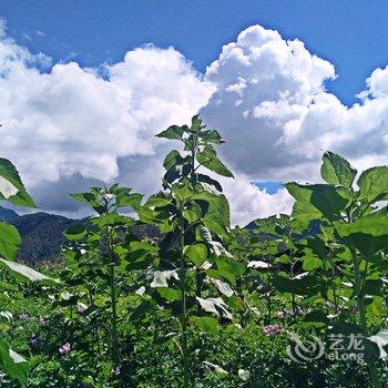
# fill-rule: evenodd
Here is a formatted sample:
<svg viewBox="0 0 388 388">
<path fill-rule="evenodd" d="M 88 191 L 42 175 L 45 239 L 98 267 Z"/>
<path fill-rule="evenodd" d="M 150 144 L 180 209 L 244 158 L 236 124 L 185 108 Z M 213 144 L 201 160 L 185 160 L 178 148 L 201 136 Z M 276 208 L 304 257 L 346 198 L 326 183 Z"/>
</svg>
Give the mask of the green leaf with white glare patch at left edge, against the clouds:
<svg viewBox="0 0 388 388">
<path fill-rule="evenodd" d="M 7 159 L 0 159 L 0 200 L 8 200 L 14 205 L 34 207 L 14 165 Z"/>
</svg>

